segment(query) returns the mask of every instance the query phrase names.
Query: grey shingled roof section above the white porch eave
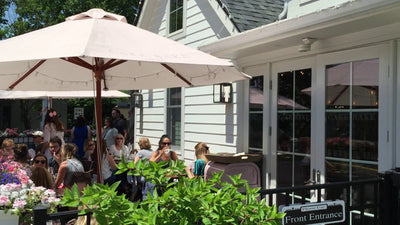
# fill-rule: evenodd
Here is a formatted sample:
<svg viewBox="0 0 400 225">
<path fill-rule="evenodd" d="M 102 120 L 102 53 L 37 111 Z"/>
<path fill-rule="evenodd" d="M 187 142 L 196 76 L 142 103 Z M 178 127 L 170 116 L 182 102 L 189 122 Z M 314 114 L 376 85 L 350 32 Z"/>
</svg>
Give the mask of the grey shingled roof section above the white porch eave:
<svg viewBox="0 0 400 225">
<path fill-rule="evenodd" d="M 240 32 L 278 20 L 284 0 L 217 0 Z"/>
</svg>

